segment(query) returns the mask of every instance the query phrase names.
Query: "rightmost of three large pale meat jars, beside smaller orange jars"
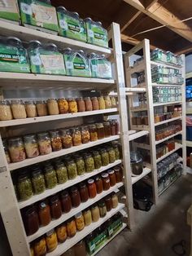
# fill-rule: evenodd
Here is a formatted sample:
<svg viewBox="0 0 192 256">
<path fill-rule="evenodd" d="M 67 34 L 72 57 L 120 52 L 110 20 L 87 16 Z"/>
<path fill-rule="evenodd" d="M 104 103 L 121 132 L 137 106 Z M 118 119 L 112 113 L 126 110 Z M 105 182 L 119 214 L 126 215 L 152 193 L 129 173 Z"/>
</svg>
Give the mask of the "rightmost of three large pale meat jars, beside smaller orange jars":
<svg viewBox="0 0 192 256">
<path fill-rule="evenodd" d="M 50 152 L 52 152 L 52 148 L 49 134 L 47 132 L 42 132 L 40 134 L 37 134 L 37 138 L 41 155 L 50 154 Z"/>
</svg>

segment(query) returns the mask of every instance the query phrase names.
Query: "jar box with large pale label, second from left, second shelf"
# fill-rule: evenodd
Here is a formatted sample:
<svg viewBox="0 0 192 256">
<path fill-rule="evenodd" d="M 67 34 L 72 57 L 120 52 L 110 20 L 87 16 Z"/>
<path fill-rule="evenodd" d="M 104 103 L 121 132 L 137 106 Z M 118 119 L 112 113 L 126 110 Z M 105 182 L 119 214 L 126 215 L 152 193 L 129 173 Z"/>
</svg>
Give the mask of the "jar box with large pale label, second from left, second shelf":
<svg viewBox="0 0 192 256">
<path fill-rule="evenodd" d="M 63 55 L 54 43 L 41 45 L 41 42 L 30 41 L 28 56 L 32 73 L 66 74 Z"/>
</svg>

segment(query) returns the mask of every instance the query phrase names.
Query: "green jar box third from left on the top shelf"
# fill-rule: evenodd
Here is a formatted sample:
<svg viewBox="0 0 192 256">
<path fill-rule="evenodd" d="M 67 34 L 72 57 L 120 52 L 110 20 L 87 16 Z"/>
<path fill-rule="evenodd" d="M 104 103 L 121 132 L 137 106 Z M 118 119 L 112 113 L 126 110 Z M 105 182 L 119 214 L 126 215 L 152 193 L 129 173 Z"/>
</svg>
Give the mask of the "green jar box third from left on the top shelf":
<svg viewBox="0 0 192 256">
<path fill-rule="evenodd" d="M 66 10 L 64 7 L 57 7 L 59 21 L 59 35 L 64 38 L 72 38 L 86 42 L 85 23 L 80 19 L 78 13 Z"/>
</svg>

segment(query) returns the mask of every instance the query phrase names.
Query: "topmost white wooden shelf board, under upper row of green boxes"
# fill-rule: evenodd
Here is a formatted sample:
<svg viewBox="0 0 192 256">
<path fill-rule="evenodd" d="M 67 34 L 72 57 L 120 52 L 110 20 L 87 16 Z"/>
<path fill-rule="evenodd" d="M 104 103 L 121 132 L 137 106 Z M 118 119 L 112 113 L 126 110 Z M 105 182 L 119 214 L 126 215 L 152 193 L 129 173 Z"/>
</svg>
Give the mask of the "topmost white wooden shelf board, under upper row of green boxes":
<svg viewBox="0 0 192 256">
<path fill-rule="evenodd" d="M 6 21 L 0 20 L 0 30 L 2 36 L 20 38 L 20 40 L 26 42 L 30 40 L 39 40 L 40 42 L 54 42 L 60 48 L 70 47 L 75 49 L 84 49 L 89 52 L 98 52 L 100 54 L 111 54 L 111 50 L 101 47 L 94 46 L 86 42 L 80 42 L 70 38 L 63 38 L 60 36 L 53 35 L 51 33 L 41 32 L 36 29 L 29 29 L 17 24 L 10 24 Z"/>
</svg>

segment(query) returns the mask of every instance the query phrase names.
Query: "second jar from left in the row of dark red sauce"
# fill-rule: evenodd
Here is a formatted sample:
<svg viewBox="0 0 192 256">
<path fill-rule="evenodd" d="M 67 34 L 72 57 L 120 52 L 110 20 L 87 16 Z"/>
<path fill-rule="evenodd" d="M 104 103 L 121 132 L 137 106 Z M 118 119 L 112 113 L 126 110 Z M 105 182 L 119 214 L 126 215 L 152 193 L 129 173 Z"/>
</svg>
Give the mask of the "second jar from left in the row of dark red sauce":
<svg viewBox="0 0 192 256">
<path fill-rule="evenodd" d="M 50 223 L 51 221 L 51 216 L 50 216 L 50 205 L 47 205 L 45 201 L 42 201 L 39 204 L 39 220 L 41 223 L 41 226 L 46 226 Z"/>
</svg>

